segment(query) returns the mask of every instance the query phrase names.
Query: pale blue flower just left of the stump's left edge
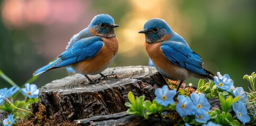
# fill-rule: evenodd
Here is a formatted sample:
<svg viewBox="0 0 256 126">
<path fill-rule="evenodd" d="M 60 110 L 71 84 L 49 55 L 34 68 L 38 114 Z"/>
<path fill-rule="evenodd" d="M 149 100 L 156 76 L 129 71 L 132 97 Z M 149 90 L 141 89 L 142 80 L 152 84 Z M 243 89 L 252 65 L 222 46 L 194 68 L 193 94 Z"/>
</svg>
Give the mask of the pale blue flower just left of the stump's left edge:
<svg viewBox="0 0 256 126">
<path fill-rule="evenodd" d="M 25 96 L 29 98 L 36 98 L 39 94 L 39 89 L 37 89 L 37 86 L 35 84 L 26 83 L 25 88 L 21 89 Z"/>
</svg>

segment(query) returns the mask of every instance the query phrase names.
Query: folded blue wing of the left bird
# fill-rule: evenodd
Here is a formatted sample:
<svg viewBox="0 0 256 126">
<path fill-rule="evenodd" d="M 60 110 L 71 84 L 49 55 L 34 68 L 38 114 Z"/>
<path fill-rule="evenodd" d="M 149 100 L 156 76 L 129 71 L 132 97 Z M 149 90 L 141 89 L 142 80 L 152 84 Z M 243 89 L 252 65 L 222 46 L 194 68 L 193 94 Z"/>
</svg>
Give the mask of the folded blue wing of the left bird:
<svg viewBox="0 0 256 126">
<path fill-rule="evenodd" d="M 72 47 L 64 51 L 58 58 L 61 59 L 55 67 L 65 67 L 84 59 L 91 59 L 96 56 L 103 47 L 100 37 L 90 37 L 78 40 Z"/>
</svg>

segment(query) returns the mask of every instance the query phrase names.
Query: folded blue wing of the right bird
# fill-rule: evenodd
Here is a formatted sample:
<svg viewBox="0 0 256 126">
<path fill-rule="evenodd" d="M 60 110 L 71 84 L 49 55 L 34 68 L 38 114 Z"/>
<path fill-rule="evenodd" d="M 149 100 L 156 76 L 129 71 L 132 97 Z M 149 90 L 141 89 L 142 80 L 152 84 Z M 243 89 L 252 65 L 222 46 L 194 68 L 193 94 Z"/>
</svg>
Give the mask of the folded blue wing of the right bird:
<svg viewBox="0 0 256 126">
<path fill-rule="evenodd" d="M 206 75 L 202 58 L 187 45 L 177 41 L 165 41 L 161 47 L 163 54 L 174 65 L 183 67 L 198 75 Z"/>
</svg>

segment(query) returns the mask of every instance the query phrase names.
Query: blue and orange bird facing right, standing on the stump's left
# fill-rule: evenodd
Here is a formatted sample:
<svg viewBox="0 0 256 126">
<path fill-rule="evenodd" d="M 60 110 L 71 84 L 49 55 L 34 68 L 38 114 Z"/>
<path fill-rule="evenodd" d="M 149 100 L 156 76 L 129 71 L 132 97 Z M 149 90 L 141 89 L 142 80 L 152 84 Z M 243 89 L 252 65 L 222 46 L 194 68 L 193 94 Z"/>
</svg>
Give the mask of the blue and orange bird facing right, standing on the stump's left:
<svg viewBox="0 0 256 126">
<path fill-rule="evenodd" d="M 118 39 L 113 28 L 118 27 L 107 14 L 95 16 L 89 26 L 74 35 L 56 60 L 36 70 L 34 76 L 52 69 L 71 66 L 76 72 L 86 76 L 101 74 L 117 56 Z"/>
</svg>

